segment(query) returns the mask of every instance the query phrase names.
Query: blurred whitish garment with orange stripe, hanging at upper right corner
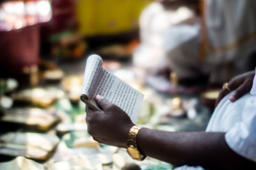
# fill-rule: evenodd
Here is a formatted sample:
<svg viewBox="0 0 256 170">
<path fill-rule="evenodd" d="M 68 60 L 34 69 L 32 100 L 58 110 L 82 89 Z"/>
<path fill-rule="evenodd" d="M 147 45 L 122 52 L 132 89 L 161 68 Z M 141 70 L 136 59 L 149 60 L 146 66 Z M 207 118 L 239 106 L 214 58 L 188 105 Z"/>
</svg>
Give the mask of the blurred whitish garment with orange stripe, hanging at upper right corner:
<svg viewBox="0 0 256 170">
<path fill-rule="evenodd" d="M 254 0 L 205 0 L 209 46 L 205 65 L 211 68 L 210 81 L 227 81 L 228 63 L 230 77 L 247 71 L 256 43 L 255 6 Z"/>
</svg>

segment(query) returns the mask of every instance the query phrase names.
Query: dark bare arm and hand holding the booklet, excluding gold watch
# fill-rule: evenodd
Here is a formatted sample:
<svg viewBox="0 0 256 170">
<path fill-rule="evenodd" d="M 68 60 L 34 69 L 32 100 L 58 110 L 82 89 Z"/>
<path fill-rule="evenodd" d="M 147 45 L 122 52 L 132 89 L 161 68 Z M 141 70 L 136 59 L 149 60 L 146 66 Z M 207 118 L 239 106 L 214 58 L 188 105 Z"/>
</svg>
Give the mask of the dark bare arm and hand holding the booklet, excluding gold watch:
<svg viewBox="0 0 256 170">
<path fill-rule="evenodd" d="M 86 107 L 89 134 L 100 143 L 126 148 L 129 129 L 134 124 L 122 109 L 105 98 L 97 97 L 96 100 L 102 111 Z M 142 128 L 138 134 L 138 148 L 147 156 L 178 166 L 241 169 L 253 164 L 230 150 L 225 134 L 219 132 L 165 132 Z"/>
</svg>

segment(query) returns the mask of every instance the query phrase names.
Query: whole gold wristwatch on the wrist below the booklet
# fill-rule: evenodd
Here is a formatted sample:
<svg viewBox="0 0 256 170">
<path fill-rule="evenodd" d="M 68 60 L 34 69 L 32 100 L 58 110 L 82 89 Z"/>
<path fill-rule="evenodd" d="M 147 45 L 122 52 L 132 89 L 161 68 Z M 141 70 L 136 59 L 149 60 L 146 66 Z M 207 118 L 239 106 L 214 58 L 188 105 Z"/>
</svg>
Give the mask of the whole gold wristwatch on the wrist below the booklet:
<svg viewBox="0 0 256 170">
<path fill-rule="evenodd" d="M 140 130 L 141 127 L 137 127 L 136 125 L 130 128 L 127 139 L 127 152 L 132 158 L 141 161 L 145 159 L 146 156 L 141 154 L 140 151 L 138 150 L 137 135 Z"/>
</svg>

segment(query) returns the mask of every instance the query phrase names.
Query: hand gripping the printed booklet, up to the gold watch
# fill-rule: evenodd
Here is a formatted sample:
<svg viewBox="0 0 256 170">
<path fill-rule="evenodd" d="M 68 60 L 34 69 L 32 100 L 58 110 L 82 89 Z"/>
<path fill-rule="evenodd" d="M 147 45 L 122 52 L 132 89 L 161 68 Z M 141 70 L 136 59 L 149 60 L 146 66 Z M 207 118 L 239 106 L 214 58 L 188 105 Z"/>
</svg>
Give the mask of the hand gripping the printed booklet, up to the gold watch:
<svg viewBox="0 0 256 170">
<path fill-rule="evenodd" d="M 129 130 L 134 125 L 131 119 L 106 98 L 97 95 L 95 100 L 102 111 L 94 111 L 86 105 L 88 133 L 99 143 L 127 148 Z"/>
</svg>

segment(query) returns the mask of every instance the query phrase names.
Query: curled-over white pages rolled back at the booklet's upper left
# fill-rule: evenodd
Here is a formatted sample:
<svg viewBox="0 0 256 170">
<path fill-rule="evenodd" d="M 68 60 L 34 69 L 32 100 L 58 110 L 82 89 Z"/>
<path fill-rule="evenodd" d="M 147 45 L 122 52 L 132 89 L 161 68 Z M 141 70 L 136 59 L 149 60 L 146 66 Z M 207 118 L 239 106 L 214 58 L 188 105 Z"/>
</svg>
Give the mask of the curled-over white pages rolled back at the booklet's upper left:
<svg viewBox="0 0 256 170">
<path fill-rule="evenodd" d="M 97 77 L 102 68 L 102 64 L 102 58 L 95 54 L 90 56 L 86 61 L 81 95 L 85 95 L 87 100 L 90 98 L 90 92 L 93 91 L 97 82 Z"/>
</svg>

